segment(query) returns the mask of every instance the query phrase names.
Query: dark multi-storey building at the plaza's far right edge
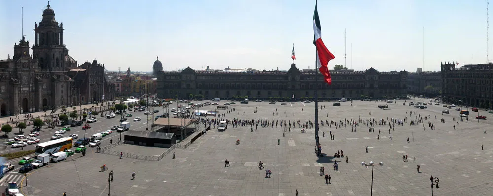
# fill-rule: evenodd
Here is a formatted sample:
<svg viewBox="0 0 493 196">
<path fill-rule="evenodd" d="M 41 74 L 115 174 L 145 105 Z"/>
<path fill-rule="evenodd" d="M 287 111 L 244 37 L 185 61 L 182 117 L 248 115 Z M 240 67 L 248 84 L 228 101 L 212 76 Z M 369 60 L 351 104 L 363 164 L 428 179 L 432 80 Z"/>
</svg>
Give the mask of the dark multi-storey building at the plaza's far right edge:
<svg viewBox="0 0 493 196">
<path fill-rule="evenodd" d="M 493 64 L 473 64 L 456 68 L 441 63 L 442 100 L 474 107 L 491 108 L 493 103 Z"/>
</svg>

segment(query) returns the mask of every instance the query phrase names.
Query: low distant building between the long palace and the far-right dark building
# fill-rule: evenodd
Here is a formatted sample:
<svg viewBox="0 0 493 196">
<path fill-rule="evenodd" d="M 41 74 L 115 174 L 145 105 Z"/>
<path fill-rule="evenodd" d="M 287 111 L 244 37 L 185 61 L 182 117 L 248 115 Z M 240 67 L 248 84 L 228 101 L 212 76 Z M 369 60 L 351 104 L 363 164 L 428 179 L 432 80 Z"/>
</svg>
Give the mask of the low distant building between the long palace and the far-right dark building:
<svg viewBox="0 0 493 196">
<path fill-rule="evenodd" d="M 407 91 L 414 95 L 438 96 L 442 89 L 440 72 L 416 72 L 407 75 Z"/>
</svg>

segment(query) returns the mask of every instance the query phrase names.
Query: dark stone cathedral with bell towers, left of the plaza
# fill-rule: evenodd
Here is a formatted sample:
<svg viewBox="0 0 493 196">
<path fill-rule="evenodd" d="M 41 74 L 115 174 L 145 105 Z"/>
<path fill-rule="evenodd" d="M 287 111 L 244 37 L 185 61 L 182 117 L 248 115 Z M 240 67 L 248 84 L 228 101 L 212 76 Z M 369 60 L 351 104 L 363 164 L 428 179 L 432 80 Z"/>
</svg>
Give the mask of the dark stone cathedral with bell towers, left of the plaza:
<svg viewBox="0 0 493 196">
<path fill-rule="evenodd" d="M 1 116 L 114 98 L 114 84 L 107 83 L 104 65 L 94 61 L 78 66 L 63 43 L 63 31 L 48 3 L 41 22 L 35 23 L 32 48 L 22 37 L 14 45 L 14 55 L 0 59 Z"/>
</svg>

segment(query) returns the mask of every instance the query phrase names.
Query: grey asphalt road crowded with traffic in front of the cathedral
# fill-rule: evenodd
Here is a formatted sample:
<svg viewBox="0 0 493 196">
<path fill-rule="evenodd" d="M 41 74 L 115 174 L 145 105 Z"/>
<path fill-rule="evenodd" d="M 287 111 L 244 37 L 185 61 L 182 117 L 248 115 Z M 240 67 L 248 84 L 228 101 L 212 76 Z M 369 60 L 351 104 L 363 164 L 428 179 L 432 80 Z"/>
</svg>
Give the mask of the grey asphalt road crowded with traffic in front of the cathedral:
<svg viewBox="0 0 493 196">
<path fill-rule="evenodd" d="M 162 107 L 154 107 L 151 110 L 154 110 L 154 109 L 160 110 L 160 112 L 154 114 L 155 116 L 163 114 L 163 108 Z M 149 124 L 152 124 L 152 115 L 145 115 L 144 111 L 141 111 L 141 112 L 139 112 L 139 111 L 133 112 L 132 111 L 132 112 L 128 112 L 128 113 L 132 114 L 132 117 L 128 117 L 128 120 L 127 120 L 128 122 L 130 122 L 130 129 L 132 129 L 132 130 L 145 130 L 146 123 L 147 123 L 146 122 L 147 116 L 149 118 Z M 135 117 L 141 117 L 141 121 L 134 122 L 133 119 Z M 79 139 L 79 138 L 84 137 L 84 132 L 85 132 L 86 137 L 91 137 L 91 135 L 93 135 L 95 133 L 109 130 L 111 128 L 111 126 L 120 125 L 120 115 L 117 115 L 115 118 L 111 118 L 111 119 L 107 119 L 106 117 L 100 117 L 99 115 L 97 115 L 96 118 L 98 119 L 96 122 L 90 123 L 91 129 L 87 129 L 84 131 L 82 129 L 82 126 L 70 127 L 70 125 L 67 125 L 71 129 L 70 129 L 70 131 L 67 131 L 67 133 L 63 134 L 63 135 L 69 136 L 70 134 L 77 134 L 78 135 L 77 139 Z M 55 134 L 55 131 L 58 131 L 61 128 L 63 128 L 63 126 L 57 126 L 55 129 L 52 129 L 52 130 L 42 129 L 40 132 L 40 135 L 36 138 L 41 140 L 39 143 L 50 141 L 51 140 L 50 138 L 51 138 L 51 136 L 53 136 Z M 149 125 L 149 128 L 150 128 L 150 125 Z M 32 126 L 31 126 L 31 128 L 28 127 L 25 130 L 31 130 L 31 129 L 32 129 Z M 24 135 L 28 136 L 29 133 L 30 132 L 25 131 Z M 13 138 L 13 137 L 17 136 L 17 134 L 18 133 L 13 130 L 9 135 L 11 138 Z M 124 133 L 122 133 L 122 136 L 123 135 L 124 135 Z M 116 136 L 118 136 L 117 138 L 119 138 L 120 134 L 118 134 L 115 130 L 112 134 L 104 137 L 101 140 L 101 146 L 108 145 L 109 140 L 116 137 Z M 117 138 L 115 138 L 114 140 L 115 141 L 118 140 Z M 77 140 L 77 139 L 75 139 L 75 140 Z M 74 142 L 75 142 L 75 140 L 74 140 Z M 32 145 L 28 145 L 27 147 L 24 147 L 23 149 L 21 149 L 21 148 L 12 148 L 11 145 L 9 145 L 7 147 L 7 149 L 4 149 L 4 150 L 2 149 L 0 151 L 0 154 L 12 153 L 12 152 L 17 152 L 17 151 L 21 151 L 21 150 L 34 150 L 35 146 L 36 146 L 36 144 L 32 144 Z"/>
</svg>

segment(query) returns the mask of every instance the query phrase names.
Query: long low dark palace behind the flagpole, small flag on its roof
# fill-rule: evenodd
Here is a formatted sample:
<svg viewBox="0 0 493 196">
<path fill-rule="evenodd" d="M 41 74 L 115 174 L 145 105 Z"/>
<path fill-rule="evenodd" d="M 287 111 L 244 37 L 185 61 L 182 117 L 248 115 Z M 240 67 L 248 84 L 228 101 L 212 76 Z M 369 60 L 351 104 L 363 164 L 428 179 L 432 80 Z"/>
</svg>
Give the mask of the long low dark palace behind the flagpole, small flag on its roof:
<svg viewBox="0 0 493 196">
<path fill-rule="evenodd" d="M 378 72 L 331 70 L 332 85 L 327 85 L 320 74 L 318 96 L 324 99 L 403 97 L 407 95 L 407 72 Z M 195 71 L 190 67 L 181 72 L 159 72 L 158 98 L 188 98 L 190 94 L 204 98 L 313 97 L 314 71 L 302 72 L 295 64 L 289 71 Z"/>
</svg>

